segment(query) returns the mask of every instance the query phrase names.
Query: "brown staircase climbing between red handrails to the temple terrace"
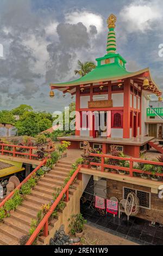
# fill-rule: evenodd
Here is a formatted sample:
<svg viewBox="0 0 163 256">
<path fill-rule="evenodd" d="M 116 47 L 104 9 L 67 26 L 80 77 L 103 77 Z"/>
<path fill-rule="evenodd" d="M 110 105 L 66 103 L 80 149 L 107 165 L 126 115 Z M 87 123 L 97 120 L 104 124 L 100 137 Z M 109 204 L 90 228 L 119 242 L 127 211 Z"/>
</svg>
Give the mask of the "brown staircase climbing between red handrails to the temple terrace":
<svg viewBox="0 0 163 256">
<path fill-rule="evenodd" d="M 39 180 L 32 193 L 23 200 L 22 205 L 11 212 L 10 217 L 4 218 L 4 222 L 0 223 L 0 245 L 19 245 L 20 238 L 29 234 L 32 219 L 36 219 L 42 204 L 48 204 L 53 200 L 54 188 L 64 185 L 64 180 L 72 169 L 71 165 L 72 163 L 59 161 L 48 174 L 45 174 L 44 178 Z M 73 195 L 78 184 L 78 181 L 74 182 L 73 188 L 69 190 L 69 197 Z M 49 230 L 52 229 L 57 219 L 58 217 L 51 222 Z M 43 244 L 42 237 L 39 238 L 37 244 Z"/>
</svg>

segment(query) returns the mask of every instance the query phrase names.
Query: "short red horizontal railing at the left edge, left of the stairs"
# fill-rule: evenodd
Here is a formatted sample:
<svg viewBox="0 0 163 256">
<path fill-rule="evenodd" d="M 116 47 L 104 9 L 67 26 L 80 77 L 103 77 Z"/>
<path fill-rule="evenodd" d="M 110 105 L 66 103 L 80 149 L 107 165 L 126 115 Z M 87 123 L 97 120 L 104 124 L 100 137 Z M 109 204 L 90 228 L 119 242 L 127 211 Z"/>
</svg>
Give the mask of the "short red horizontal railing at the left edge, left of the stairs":
<svg viewBox="0 0 163 256">
<path fill-rule="evenodd" d="M 12 148 L 12 150 L 5 150 L 5 147 L 10 147 Z M 4 144 L 4 143 L 0 143 L 0 152 L 1 155 L 5 155 L 5 153 L 10 153 L 12 154 L 12 156 L 16 156 L 16 155 L 24 155 L 24 156 L 29 156 L 29 159 L 31 160 L 32 157 L 37 157 L 37 155 L 33 154 L 33 150 L 36 149 L 34 147 L 27 147 L 27 146 L 21 146 L 21 145 L 10 145 L 10 144 Z M 29 151 L 28 152 L 17 152 L 16 148 L 20 148 L 20 149 L 27 149 Z"/>
</svg>

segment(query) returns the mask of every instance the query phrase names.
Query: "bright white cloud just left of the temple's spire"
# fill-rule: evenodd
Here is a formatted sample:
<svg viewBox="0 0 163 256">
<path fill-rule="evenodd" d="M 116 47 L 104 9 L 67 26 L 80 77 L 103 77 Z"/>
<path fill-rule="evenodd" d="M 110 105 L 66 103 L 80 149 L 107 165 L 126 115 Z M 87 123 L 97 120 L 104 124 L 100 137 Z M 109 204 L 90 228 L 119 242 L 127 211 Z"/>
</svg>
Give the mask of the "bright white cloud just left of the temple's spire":
<svg viewBox="0 0 163 256">
<path fill-rule="evenodd" d="M 82 22 L 83 25 L 87 28 L 87 31 L 90 31 L 90 26 L 96 26 L 97 32 L 101 33 L 103 31 L 103 18 L 101 15 L 89 13 L 87 11 L 74 11 L 72 13 L 67 13 L 65 15 L 66 23 L 77 24 Z"/>
</svg>

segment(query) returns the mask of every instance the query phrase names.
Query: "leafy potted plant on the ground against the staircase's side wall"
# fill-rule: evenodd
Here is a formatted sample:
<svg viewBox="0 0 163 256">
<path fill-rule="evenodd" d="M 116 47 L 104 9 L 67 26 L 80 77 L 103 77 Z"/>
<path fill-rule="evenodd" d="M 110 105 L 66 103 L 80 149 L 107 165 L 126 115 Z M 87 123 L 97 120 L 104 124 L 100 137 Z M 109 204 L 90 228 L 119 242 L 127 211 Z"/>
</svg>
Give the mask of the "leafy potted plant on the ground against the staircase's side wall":
<svg viewBox="0 0 163 256">
<path fill-rule="evenodd" d="M 82 214 L 71 215 L 71 219 L 68 219 L 70 224 L 68 227 L 71 229 L 71 234 L 81 238 L 83 236 L 84 224 L 87 222 Z"/>
</svg>

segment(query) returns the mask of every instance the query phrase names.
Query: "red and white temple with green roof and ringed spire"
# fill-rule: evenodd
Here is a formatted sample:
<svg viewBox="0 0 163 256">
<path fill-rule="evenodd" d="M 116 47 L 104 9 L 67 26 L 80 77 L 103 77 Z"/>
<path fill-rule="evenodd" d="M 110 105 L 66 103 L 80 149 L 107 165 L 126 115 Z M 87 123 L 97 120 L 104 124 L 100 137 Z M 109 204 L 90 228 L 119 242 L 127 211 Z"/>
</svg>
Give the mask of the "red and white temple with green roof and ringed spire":
<svg viewBox="0 0 163 256">
<path fill-rule="evenodd" d="M 52 83 L 51 90 L 76 95 L 76 134 L 62 137 L 71 148 L 82 148 L 83 140 L 108 153 L 114 144 L 125 154 L 139 157 L 154 139 L 149 136 L 147 108 L 150 95 L 161 96 L 148 68 L 129 72 L 126 59 L 116 53 L 116 17 L 108 18 L 106 54 L 97 58 L 97 66 L 77 80 Z M 53 93 L 53 91 L 51 92 Z M 104 129 L 98 124 L 104 123 Z"/>
</svg>

